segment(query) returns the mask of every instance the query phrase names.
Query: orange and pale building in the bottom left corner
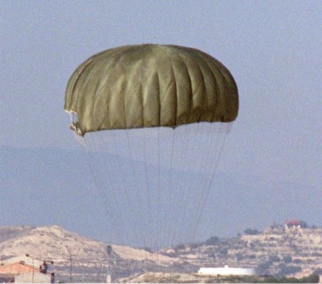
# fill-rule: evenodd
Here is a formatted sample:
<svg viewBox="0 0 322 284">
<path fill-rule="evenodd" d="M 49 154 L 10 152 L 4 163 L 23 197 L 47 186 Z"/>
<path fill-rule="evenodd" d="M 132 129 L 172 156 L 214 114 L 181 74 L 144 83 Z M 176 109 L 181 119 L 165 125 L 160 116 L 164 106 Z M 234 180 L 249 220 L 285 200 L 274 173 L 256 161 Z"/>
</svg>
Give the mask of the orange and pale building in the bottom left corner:
<svg viewBox="0 0 322 284">
<path fill-rule="evenodd" d="M 0 282 L 5 283 L 54 283 L 54 273 L 48 273 L 48 263 L 24 256 L 12 257 L 0 262 Z"/>
</svg>

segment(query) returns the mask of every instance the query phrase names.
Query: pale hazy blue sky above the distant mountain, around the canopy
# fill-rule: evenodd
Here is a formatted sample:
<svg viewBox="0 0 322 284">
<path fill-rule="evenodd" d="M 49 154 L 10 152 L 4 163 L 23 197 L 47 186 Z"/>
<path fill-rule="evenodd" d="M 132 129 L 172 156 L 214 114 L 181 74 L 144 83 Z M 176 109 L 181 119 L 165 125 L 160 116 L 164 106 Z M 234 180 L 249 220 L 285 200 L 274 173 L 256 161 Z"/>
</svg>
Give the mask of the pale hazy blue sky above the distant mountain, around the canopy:
<svg viewBox="0 0 322 284">
<path fill-rule="evenodd" d="M 312 198 L 322 202 L 320 1 L 2 1 L 1 6 L 3 149 L 77 148 L 63 111 L 64 93 L 70 75 L 92 54 L 126 44 L 185 45 L 220 60 L 239 89 L 239 116 L 220 171 L 242 177 L 245 186 L 253 182 L 249 176 L 260 177 L 257 186 L 294 184 L 292 198 L 298 188 L 307 195 L 315 190 Z M 322 212 L 311 209 L 306 217 L 320 222 Z M 5 221 L 17 223 L 15 216 Z"/>
</svg>

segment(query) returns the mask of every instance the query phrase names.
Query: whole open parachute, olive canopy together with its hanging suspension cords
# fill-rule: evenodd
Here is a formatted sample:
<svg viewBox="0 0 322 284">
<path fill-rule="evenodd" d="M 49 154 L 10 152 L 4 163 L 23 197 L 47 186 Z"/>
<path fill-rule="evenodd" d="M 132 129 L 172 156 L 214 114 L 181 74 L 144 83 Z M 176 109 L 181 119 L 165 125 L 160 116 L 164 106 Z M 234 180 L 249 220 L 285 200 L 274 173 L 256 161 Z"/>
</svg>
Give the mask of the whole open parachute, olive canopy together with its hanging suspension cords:
<svg viewBox="0 0 322 284">
<path fill-rule="evenodd" d="M 227 68 L 182 46 L 108 49 L 76 69 L 65 110 L 106 205 L 110 239 L 158 249 L 200 235 L 238 113 Z"/>
</svg>

